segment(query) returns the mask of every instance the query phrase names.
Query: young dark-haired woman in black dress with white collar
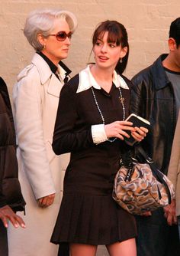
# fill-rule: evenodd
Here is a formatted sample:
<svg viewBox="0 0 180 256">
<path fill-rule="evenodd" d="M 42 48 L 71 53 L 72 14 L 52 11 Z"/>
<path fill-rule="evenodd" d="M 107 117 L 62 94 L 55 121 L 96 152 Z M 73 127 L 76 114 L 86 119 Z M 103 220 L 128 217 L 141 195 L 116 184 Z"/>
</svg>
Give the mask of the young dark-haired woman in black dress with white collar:
<svg viewBox="0 0 180 256">
<path fill-rule="evenodd" d="M 51 241 L 60 244 L 59 255 L 69 244 L 71 256 L 95 256 L 98 245 L 106 245 L 111 256 L 135 256 L 133 215 L 111 196 L 126 131 L 137 141 L 147 132 L 125 121 L 131 86 L 121 75 L 129 53 L 127 31 L 117 21 L 104 21 L 92 44 L 95 64 L 73 77 L 59 98 L 53 150 L 71 152 L 71 160 Z"/>
</svg>

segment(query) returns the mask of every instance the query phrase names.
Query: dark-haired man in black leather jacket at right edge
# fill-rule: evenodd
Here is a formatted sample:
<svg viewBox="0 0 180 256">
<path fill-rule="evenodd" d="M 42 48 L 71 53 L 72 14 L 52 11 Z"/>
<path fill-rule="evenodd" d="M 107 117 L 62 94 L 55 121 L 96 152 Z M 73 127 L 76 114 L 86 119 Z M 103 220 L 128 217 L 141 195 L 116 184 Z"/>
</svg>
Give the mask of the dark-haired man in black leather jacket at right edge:
<svg viewBox="0 0 180 256">
<path fill-rule="evenodd" d="M 141 144 L 167 174 L 180 107 L 180 18 L 170 26 L 169 54 L 162 54 L 132 81 L 130 113 L 151 123 Z M 137 216 L 137 228 L 137 256 L 180 255 L 177 225 L 167 224 L 163 209 Z"/>
</svg>

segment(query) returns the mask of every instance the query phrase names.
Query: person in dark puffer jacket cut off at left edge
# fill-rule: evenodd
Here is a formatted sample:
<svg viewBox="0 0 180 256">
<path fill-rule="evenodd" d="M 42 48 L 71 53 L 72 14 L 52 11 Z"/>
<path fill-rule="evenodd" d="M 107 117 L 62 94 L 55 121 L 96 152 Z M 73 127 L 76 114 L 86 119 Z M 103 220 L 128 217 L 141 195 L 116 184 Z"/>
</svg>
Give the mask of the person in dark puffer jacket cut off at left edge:
<svg viewBox="0 0 180 256">
<path fill-rule="evenodd" d="M 8 256 L 8 221 L 14 228 L 25 228 L 14 212 L 24 210 L 24 199 L 18 182 L 14 123 L 11 103 L 4 80 L 0 77 L 0 255 Z"/>
</svg>

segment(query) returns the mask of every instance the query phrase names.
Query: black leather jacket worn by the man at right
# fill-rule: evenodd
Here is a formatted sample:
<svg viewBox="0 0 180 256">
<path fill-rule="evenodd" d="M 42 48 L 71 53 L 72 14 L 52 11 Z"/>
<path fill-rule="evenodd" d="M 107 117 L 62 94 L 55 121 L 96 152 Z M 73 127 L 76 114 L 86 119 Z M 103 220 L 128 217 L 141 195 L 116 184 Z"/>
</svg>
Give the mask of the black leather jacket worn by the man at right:
<svg viewBox="0 0 180 256">
<path fill-rule="evenodd" d="M 133 77 L 130 99 L 130 113 L 137 113 L 151 123 L 142 146 L 164 173 L 169 166 L 176 123 L 175 94 L 162 67 L 166 56 L 162 54 L 153 65 Z"/>
</svg>

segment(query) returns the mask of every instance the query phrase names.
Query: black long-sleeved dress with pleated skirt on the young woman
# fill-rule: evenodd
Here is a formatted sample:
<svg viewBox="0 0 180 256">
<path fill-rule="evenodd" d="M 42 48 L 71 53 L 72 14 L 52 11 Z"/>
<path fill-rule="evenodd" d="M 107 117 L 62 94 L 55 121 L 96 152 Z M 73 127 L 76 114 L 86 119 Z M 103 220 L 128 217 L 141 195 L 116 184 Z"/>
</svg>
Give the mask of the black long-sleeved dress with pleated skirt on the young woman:
<svg viewBox="0 0 180 256">
<path fill-rule="evenodd" d="M 130 87 L 130 81 L 124 80 Z M 120 139 L 93 143 L 91 126 L 102 123 L 101 116 L 92 89 L 76 93 L 78 86 L 79 74 L 64 85 L 59 99 L 53 150 L 56 154 L 71 152 L 71 159 L 51 242 L 110 245 L 137 235 L 133 215 L 111 196 L 124 143 Z M 113 84 L 109 94 L 103 89 L 94 91 L 105 123 L 122 120 L 118 88 Z M 130 90 L 121 91 L 128 115 Z"/>
</svg>

